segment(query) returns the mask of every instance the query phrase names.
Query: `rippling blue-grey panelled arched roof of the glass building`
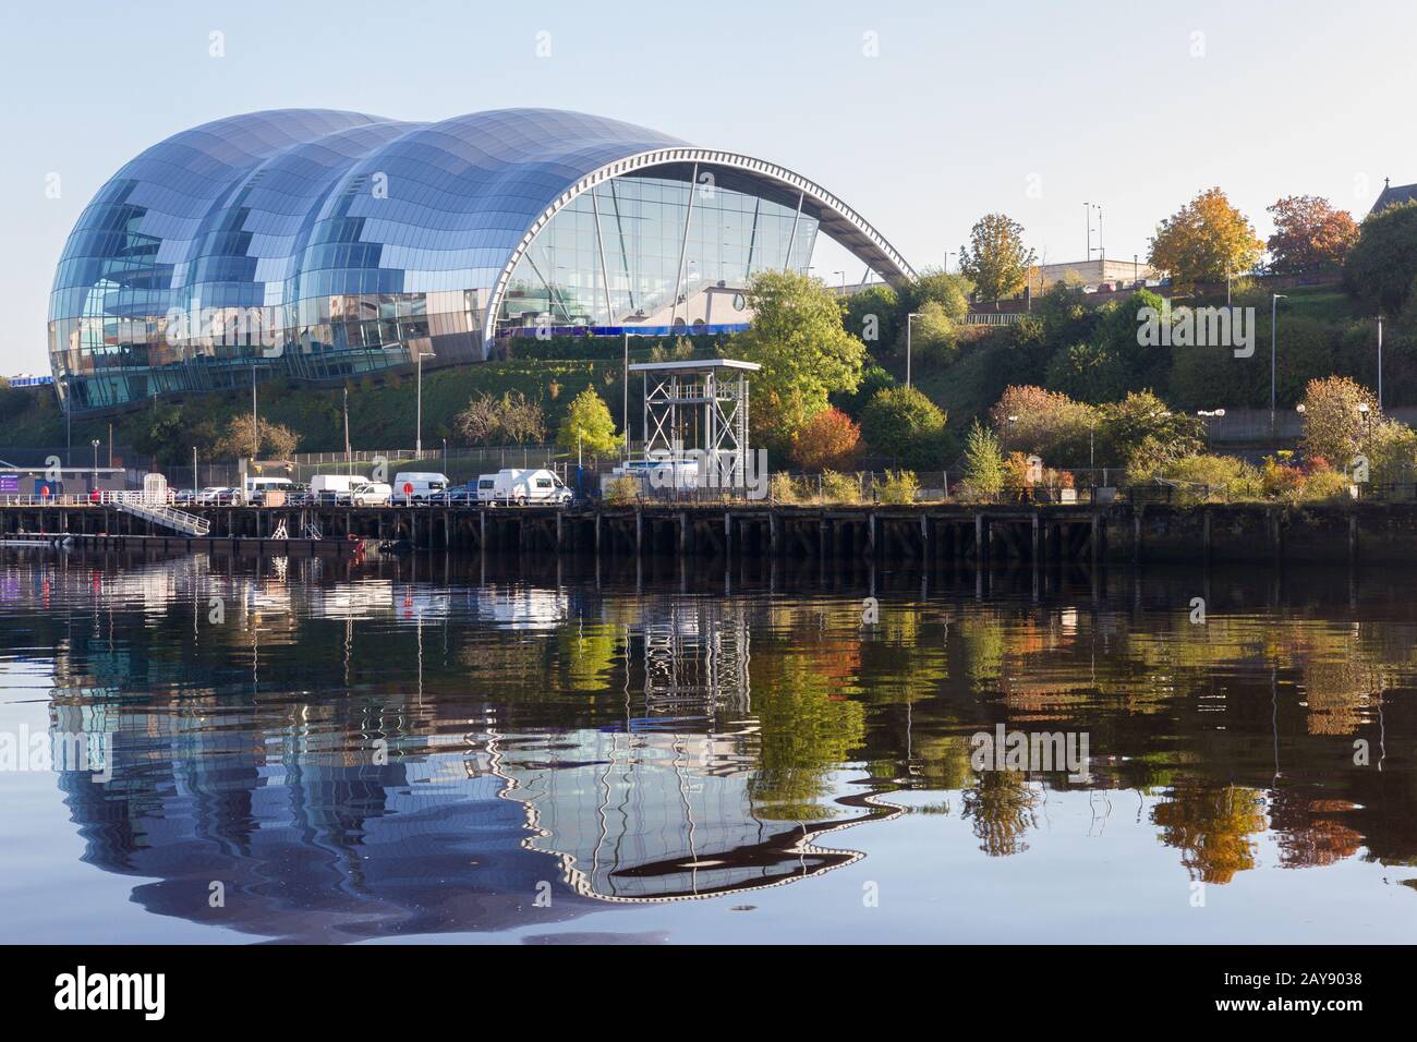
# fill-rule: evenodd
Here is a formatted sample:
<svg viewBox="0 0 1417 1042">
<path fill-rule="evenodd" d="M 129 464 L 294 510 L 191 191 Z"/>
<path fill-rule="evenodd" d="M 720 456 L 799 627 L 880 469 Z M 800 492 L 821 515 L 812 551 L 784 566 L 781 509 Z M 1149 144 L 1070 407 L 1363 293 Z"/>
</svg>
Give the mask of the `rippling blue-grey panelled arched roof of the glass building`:
<svg viewBox="0 0 1417 1042">
<path fill-rule="evenodd" d="M 436 123 L 282 109 L 218 119 L 152 146 L 69 235 L 51 320 L 170 308 L 295 303 L 332 293 L 480 289 L 496 313 L 546 223 L 601 180 L 710 164 L 775 191 L 883 276 L 910 267 L 859 214 L 784 167 L 632 123 L 497 109 Z"/>
</svg>

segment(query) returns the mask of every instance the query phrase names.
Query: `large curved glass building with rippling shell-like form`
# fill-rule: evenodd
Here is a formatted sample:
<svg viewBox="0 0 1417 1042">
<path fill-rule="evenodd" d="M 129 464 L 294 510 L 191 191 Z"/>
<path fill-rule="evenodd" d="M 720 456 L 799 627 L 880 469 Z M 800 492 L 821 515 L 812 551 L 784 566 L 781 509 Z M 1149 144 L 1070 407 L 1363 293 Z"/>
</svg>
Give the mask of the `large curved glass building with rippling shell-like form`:
<svg viewBox="0 0 1417 1042">
<path fill-rule="evenodd" d="M 482 362 L 530 330 L 721 330 L 818 233 L 905 261 L 784 167 L 550 109 L 408 123 L 292 109 L 154 145 L 84 210 L 50 301 L 75 411 Z"/>
</svg>

